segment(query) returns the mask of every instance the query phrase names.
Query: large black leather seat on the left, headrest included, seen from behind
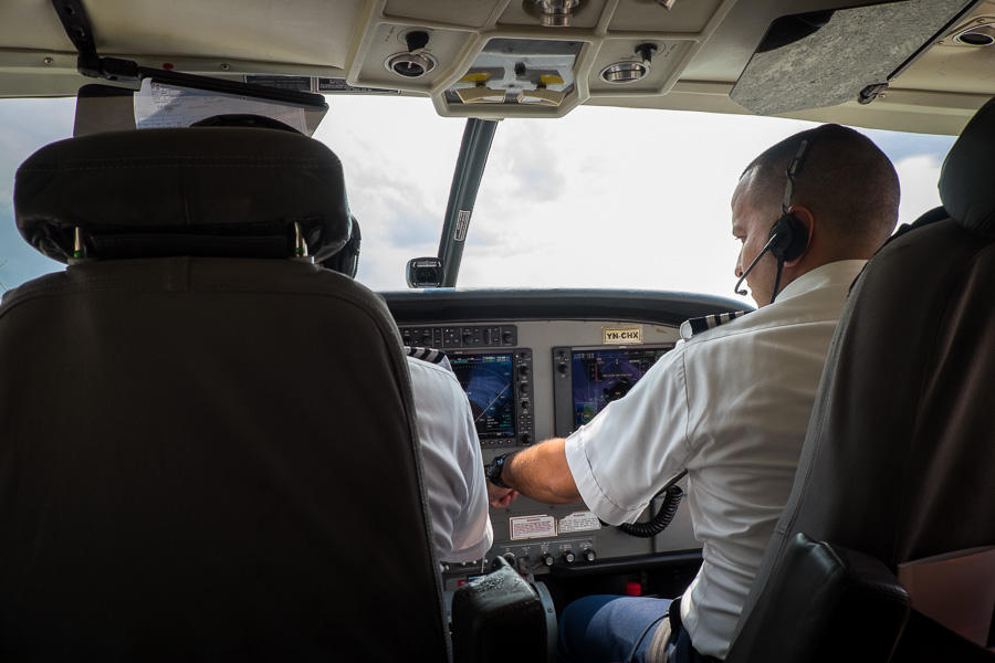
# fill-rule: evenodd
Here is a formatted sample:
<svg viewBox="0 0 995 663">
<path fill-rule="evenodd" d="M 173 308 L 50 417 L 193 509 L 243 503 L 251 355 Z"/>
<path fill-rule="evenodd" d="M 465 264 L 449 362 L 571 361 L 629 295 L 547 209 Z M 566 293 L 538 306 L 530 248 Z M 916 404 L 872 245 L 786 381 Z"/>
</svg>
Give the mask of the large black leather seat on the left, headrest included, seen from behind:
<svg viewBox="0 0 995 663">
<path fill-rule="evenodd" d="M 73 264 L 0 306 L 0 657 L 449 659 L 400 338 L 293 259 L 348 238 L 335 155 L 71 139 L 15 211 Z"/>
</svg>

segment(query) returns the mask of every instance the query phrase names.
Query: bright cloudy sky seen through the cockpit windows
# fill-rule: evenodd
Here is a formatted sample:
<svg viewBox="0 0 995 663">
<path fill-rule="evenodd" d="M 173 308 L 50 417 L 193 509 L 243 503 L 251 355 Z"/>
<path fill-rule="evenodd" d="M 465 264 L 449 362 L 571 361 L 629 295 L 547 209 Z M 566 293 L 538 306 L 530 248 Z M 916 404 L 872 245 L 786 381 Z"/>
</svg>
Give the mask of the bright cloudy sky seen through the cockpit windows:
<svg viewBox="0 0 995 663">
<path fill-rule="evenodd" d="M 328 97 L 315 138 L 342 159 L 363 229 L 357 278 L 404 290 L 405 265 L 436 255 L 464 120 L 429 99 Z M 74 99 L 0 99 L 0 286 L 61 265 L 20 238 L 14 172 L 72 134 Z M 730 199 L 743 168 L 800 120 L 582 107 L 499 124 L 473 211 L 460 287 L 622 287 L 734 297 Z M 953 137 L 863 130 L 892 159 L 900 219 L 940 204 Z M 111 193 L 106 191 L 105 193 Z M 773 223 L 774 220 L 772 220 Z M 753 303 L 747 299 L 747 303 Z"/>
</svg>

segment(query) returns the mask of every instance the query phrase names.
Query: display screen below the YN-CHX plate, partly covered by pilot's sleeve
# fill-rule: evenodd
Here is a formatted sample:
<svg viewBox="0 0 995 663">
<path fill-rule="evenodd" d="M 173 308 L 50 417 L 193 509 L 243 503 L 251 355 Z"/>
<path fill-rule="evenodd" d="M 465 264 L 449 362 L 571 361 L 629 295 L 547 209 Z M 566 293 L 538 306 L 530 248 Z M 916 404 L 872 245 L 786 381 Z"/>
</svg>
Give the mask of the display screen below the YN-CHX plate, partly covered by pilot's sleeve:
<svg viewBox="0 0 995 663">
<path fill-rule="evenodd" d="M 595 418 L 636 386 L 666 348 L 575 349 L 570 352 L 574 430 Z"/>
</svg>

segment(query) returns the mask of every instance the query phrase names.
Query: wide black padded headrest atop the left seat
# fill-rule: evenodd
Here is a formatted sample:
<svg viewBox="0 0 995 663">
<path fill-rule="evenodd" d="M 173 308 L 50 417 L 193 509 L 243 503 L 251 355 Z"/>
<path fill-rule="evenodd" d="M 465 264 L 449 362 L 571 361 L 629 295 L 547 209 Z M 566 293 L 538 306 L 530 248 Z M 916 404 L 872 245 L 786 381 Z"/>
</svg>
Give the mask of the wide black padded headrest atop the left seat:
<svg viewBox="0 0 995 663">
<path fill-rule="evenodd" d="M 317 140 L 260 128 L 113 131 L 45 146 L 18 169 L 21 235 L 60 262 L 76 229 L 91 257 L 289 257 L 348 241 L 342 164 Z"/>
</svg>

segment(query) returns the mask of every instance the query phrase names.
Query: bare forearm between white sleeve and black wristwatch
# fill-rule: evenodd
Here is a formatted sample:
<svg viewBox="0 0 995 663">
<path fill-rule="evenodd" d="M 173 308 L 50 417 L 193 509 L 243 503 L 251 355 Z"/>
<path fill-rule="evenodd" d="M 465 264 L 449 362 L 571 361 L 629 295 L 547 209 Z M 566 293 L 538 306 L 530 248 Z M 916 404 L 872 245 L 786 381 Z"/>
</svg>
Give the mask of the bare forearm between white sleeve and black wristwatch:
<svg viewBox="0 0 995 663">
<path fill-rule="evenodd" d="M 580 501 L 562 438 L 546 440 L 509 457 L 501 481 L 536 502 L 569 504 Z"/>
</svg>

